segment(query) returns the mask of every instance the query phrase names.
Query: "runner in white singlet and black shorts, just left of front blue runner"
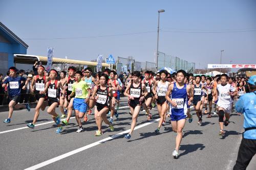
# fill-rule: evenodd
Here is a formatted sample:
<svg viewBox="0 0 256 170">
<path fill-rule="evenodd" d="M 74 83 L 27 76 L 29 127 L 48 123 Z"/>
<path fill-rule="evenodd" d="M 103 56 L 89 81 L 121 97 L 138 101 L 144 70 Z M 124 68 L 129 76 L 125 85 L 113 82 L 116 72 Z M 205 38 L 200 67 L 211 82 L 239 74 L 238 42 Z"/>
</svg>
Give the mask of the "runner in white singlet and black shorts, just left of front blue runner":
<svg viewBox="0 0 256 170">
<path fill-rule="evenodd" d="M 159 74 L 161 75 L 161 80 L 158 80 L 156 82 L 153 89 L 153 94 L 156 96 L 156 100 L 157 100 L 158 114 L 160 116 L 158 127 L 155 130 L 156 134 L 159 134 L 161 126 L 162 125 L 164 126 L 164 122 L 166 118 L 166 110 L 168 107 L 167 100 L 165 99 L 165 94 L 168 89 L 168 86 L 170 85 L 170 82 L 166 81 L 168 72 L 166 70 L 161 70 Z"/>
</svg>

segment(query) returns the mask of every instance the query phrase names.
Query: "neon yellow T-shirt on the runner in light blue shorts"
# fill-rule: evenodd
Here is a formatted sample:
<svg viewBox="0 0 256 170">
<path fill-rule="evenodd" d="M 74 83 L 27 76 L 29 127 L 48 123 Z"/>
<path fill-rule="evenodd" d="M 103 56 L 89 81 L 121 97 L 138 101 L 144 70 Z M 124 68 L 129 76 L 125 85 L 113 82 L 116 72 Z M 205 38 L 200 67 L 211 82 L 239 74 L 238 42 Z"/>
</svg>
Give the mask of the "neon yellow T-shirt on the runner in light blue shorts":
<svg viewBox="0 0 256 170">
<path fill-rule="evenodd" d="M 76 94 L 75 98 L 86 99 L 88 97 L 88 89 L 90 87 L 86 82 L 80 81 L 78 83 L 74 83 L 72 88 L 72 92 L 75 92 Z"/>
</svg>

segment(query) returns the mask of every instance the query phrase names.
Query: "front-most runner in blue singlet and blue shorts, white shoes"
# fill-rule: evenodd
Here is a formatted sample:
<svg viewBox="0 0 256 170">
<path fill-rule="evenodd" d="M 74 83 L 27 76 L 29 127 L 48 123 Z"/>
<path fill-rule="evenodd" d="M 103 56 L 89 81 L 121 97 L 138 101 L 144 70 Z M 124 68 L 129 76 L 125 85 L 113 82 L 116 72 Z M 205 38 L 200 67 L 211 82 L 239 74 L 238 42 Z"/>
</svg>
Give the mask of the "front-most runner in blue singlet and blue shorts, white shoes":
<svg viewBox="0 0 256 170">
<path fill-rule="evenodd" d="M 184 84 L 185 75 L 186 71 L 177 71 L 176 82 L 169 85 L 165 95 L 166 100 L 172 104 L 172 115 L 170 118 L 172 119 L 171 123 L 173 131 L 177 132 L 176 148 L 173 152 L 174 158 L 178 158 L 179 147 L 182 139 L 182 129 L 186 123 L 186 111 L 184 110 L 187 109 L 187 96 L 190 97 L 188 105 L 190 105 L 191 101 L 193 100 L 193 92 L 190 85 Z"/>
</svg>

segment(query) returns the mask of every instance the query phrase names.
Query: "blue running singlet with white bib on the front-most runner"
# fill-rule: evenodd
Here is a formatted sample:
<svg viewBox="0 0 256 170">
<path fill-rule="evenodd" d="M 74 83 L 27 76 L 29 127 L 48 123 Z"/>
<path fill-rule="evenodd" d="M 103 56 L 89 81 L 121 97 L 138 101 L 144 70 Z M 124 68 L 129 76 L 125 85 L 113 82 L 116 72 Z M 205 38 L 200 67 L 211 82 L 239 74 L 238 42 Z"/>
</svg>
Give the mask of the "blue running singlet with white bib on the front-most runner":
<svg viewBox="0 0 256 170">
<path fill-rule="evenodd" d="M 172 105 L 172 115 L 184 115 L 184 107 L 186 107 L 187 103 L 187 85 L 184 84 L 184 87 L 179 89 L 174 83 L 174 88 L 172 90 L 172 101 L 176 102 L 177 106 L 174 107 Z"/>
</svg>

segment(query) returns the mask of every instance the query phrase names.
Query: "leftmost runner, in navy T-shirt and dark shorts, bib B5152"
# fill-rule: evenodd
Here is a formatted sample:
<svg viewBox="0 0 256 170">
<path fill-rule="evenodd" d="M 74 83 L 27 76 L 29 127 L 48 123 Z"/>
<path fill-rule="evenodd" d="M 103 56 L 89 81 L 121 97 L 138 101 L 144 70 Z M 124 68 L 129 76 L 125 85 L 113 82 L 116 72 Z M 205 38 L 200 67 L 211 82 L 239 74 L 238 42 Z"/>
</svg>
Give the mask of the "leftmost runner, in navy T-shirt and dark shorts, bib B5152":
<svg viewBox="0 0 256 170">
<path fill-rule="evenodd" d="M 25 89 L 27 84 L 25 84 L 22 87 L 22 82 L 25 82 L 26 79 L 24 77 L 17 77 L 16 72 L 17 68 L 16 67 L 10 67 L 10 76 L 5 79 L 2 87 L 5 88 L 8 84 L 8 100 L 9 102 L 9 113 L 8 113 L 8 118 L 4 120 L 4 123 L 8 124 L 11 123 L 11 117 L 13 113 L 13 108 L 15 109 L 20 109 L 20 108 L 26 108 L 28 111 L 30 111 L 29 104 L 24 105 L 16 105 L 18 104 L 20 100 L 20 94 L 21 94 L 21 89 Z"/>
</svg>

